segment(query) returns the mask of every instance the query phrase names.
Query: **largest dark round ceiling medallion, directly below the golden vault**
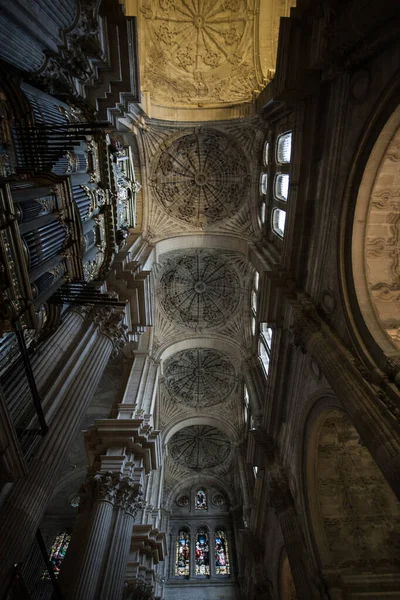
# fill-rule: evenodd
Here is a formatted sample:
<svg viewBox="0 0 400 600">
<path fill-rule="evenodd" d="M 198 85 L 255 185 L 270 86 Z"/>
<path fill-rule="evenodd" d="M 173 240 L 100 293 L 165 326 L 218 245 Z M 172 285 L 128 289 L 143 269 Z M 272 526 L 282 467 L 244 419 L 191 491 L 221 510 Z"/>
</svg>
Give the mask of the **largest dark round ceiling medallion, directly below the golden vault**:
<svg viewBox="0 0 400 600">
<path fill-rule="evenodd" d="M 163 208 L 202 228 L 236 213 L 249 185 L 247 160 L 240 147 L 219 131 L 205 128 L 164 146 L 152 177 Z"/>
</svg>

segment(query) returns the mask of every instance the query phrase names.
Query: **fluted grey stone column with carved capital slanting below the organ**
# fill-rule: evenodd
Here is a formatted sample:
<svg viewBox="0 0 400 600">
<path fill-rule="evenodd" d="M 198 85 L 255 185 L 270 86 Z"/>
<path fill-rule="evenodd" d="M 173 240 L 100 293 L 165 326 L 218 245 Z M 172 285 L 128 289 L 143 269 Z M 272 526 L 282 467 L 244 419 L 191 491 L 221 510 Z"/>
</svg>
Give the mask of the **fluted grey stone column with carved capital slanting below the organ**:
<svg viewBox="0 0 400 600">
<path fill-rule="evenodd" d="M 29 463 L 29 473 L 16 483 L 0 512 L 0 597 L 23 561 L 54 492 L 63 462 L 110 355 L 124 336 L 117 314 L 103 315 L 101 322 L 88 324 L 88 344 L 82 355 L 65 356 L 69 368 L 57 396 L 57 410 L 48 434 Z M 49 361 L 49 369 L 52 363 Z"/>
</svg>

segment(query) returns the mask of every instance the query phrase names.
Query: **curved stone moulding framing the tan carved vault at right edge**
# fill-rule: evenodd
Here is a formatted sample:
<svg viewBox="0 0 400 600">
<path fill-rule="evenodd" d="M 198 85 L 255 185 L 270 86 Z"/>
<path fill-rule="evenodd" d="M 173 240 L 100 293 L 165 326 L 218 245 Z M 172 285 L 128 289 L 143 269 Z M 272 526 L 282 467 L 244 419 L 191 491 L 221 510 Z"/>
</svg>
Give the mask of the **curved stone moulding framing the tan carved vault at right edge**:
<svg viewBox="0 0 400 600">
<path fill-rule="evenodd" d="M 361 221 L 363 221 L 362 208 L 364 205 L 365 216 L 365 206 L 367 204 L 365 198 L 371 196 L 370 192 L 378 171 L 379 161 L 383 157 L 384 148 L 387 147 L 390 137 L 389 135 L 385 141 L 384 129 L 387 126 L 386 133 L 389 133 L 390 128 L 394 130 L 394 123 L 398 117 L 398 105 L 399 81 L 398 78 L 393 78 L 382 92 L 378 101 L 378 108 L 374 107 L 372 113 L 368 115 L 361 139 L 355 149 L 341 209 L 338 262 L 340 291 L 352 342 L 360 356 L 364 358 L 370 367 L 375 368 L 378 365 L 386 372 L 392 371 L 392 366 L 388 363 L 388 357 L 399 356 L 399 354 L 376 319 L 373 305 L 367 301 L 369 294 L 365 281 L 362 281 L 364 269 L 357 274 L 357 282 L 354 280 L 357 261 L 361 268 L 363 267 L 363 252 L 361 242 L 353 240 L 353 235 L 356 234 L 358 239 L 362 237 L 361 230 L 365 225 L 365 221 L 358 225 L 355 223 L 357 203 L 360 200 L 359 211 Z M 393 120 L 391 120 L 392 118 Z M 359 229 L 359 231 L 354 231 L 354 228 Z M 361 253 L 358 257 L 355 256 L 357 247 Z M 359 287 L 359 297 L 356 293 L 356 283 Z M 360 301 L 363 306 L 360 306 Z"/>
</svg>

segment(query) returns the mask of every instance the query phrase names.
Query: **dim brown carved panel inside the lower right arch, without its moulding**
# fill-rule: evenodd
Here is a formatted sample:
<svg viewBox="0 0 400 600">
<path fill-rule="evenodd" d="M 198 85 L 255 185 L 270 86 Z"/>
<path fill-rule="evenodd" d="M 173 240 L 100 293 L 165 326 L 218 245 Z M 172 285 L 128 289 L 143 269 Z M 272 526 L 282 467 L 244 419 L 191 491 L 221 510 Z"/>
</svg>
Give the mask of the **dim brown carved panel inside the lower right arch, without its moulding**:
<svg viewBox="0 0 400 600">
<path fill-rule="evenodd" d="M 336 568 L 398 573 L 400 503 L 347 417 L 330 413 L 318 444 L 317 494 Z"/>
</svg>

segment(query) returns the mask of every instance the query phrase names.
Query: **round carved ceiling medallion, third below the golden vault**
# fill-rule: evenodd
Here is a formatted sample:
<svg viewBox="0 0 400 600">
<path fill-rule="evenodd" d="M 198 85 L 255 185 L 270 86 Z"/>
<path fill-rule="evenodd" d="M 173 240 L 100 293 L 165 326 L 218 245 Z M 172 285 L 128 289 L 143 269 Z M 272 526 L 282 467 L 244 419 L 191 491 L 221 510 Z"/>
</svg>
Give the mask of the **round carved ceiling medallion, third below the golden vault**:
<svg viewBox="0 0 400 600">
<path fill-rule="evenodd" d="M 194 408 L 224 401 L 235 386 L 235 368 L 230 360 L 209 348 L 174 354 L 165 363 L 164 377 L 171 398 Z"/>
</svg>

